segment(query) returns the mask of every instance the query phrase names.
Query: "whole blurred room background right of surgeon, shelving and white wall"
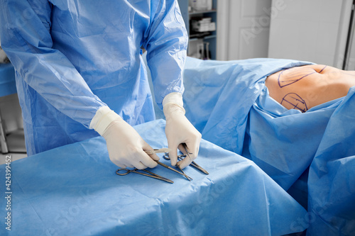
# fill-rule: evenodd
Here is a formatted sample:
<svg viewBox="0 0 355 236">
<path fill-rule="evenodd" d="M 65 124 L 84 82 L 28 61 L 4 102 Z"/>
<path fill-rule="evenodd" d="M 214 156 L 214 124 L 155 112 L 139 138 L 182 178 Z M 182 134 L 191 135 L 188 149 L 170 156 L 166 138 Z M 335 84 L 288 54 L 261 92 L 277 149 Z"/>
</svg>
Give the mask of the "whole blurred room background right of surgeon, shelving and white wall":
<svg viewBox="0 0 355 236">
<path fill-rule="evenodd" d="M 192 57 L 288 58 L 355 70 L 354 0 L 178 1 Z"/>
</svg>

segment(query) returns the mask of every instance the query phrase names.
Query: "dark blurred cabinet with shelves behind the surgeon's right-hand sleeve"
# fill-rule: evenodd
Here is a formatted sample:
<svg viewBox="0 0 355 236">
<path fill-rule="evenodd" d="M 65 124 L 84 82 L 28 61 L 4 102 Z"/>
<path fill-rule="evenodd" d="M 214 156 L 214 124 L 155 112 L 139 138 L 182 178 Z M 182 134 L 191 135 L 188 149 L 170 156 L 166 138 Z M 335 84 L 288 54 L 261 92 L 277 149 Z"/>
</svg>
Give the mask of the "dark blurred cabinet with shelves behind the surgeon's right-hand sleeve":
<svg viewBox="0 0 355 236">
<path fill-rule="evenodd" d="M 216 60 L 217 57 L 217 0 L 212 0 L 212 9 L 209 11 L 195 11 L 189 4 L 189 0 L 178 0 L 182 18 L 184 18 L 187 33 L 189 34 L 189 45 L 187 55 L 201 59 Z M 216 29 L 207 32 L 196 32 L 192 28 L 192 21 L 202 18 L 211 18 Z M 202 54 L 202 45 L 204 54 Z"/>
</svg>

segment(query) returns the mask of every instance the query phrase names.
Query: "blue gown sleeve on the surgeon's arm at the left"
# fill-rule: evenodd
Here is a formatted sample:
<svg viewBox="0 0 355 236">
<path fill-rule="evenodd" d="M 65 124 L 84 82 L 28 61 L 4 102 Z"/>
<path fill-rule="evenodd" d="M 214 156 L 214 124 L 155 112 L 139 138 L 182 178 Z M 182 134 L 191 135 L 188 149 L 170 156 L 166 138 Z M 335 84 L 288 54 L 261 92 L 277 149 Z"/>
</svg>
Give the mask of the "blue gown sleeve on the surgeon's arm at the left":
<svg viewBox="0 0 355 236">
<path fill-rule="evenodd" d="M 70 60 L 53 48 L 52 5 L 46 0 L 0 0 L 1 47 L 32 89 L 61 113 L 89 128 L 106 106 L 95 96 Z"/>
</svg>

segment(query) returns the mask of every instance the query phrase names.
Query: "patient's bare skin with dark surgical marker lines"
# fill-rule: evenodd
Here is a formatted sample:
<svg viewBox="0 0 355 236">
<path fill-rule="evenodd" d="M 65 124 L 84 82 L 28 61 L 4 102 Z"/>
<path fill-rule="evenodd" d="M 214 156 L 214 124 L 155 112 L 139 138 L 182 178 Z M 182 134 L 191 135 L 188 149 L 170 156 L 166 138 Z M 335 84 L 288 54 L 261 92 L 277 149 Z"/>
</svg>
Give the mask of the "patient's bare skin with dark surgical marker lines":
<svg viewBox="0 0 355 236">
<path fill-rule="evenodd" d="M 283 69 L 266 78 L 270 96 L 287 109 L 302 112 L 346 96 L 355 86 L 355 71 L 344 71 L 324 64 Z"/>
</svg>

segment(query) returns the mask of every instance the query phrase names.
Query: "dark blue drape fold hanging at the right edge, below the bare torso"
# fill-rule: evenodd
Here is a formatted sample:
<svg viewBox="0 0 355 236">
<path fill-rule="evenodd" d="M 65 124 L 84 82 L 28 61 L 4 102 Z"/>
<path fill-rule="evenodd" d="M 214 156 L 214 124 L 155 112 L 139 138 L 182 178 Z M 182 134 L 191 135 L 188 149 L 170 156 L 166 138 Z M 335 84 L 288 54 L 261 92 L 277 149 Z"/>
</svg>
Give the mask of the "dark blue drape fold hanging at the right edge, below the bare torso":
<svg viewBox="0 0 355 236">
<path fill-rule="evenodd" d="M 355 86 L 335 109 L 310 165 L 307 235 L 355 233 Z"/>
</svg>

